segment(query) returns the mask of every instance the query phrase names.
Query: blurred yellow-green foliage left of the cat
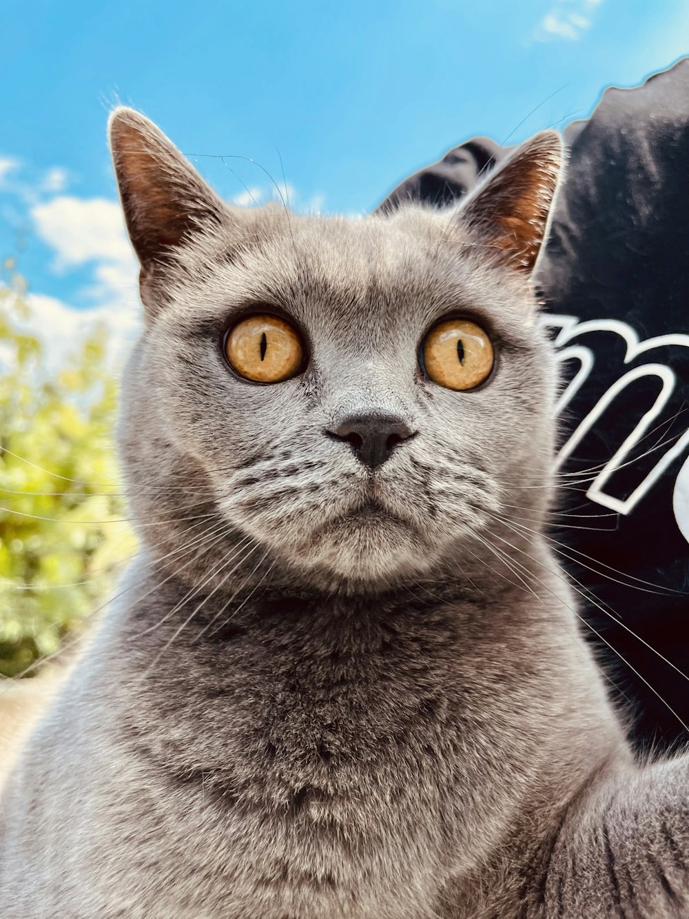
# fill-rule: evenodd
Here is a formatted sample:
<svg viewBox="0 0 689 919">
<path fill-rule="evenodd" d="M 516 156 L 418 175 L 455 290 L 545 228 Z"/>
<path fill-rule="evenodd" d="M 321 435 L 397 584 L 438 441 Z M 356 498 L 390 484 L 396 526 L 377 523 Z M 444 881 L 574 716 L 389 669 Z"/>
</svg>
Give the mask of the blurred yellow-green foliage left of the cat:
<svg viewBox="0 0 689 919">
<path fill-rule="evenodd" d="M 135 542 L 112 447 L 106 330 L 47 373 L 25 287 L 0 284 L 0 674 L 28 675 L 85 628 Z M 9 276 L 9 277 L 7 277 Z M 50 330 L 47 330 L 50 334 Z"/>
</svg>

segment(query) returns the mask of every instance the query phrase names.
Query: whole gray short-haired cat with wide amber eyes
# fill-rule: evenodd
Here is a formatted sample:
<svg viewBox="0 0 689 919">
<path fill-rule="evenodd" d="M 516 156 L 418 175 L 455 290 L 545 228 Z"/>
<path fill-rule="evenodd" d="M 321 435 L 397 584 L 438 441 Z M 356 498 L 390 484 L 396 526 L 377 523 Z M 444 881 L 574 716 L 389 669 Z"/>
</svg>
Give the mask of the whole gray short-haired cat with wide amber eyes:
<svg viewBox="0 0 689 919">
<path fill-rule="evenodd" d="M 633 760 L 542 535 L 558 135 L 347 221 L 110 129 L 147 554 L 5 789 L 3 919 L 689 915 L 686 760 Z"/>
</svg>

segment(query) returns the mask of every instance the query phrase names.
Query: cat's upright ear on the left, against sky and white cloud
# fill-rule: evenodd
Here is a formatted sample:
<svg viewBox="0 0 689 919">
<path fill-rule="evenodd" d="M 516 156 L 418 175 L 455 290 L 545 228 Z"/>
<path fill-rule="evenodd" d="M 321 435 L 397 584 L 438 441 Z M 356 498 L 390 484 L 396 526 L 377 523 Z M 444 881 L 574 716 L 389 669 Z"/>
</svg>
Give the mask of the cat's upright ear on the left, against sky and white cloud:
<svg viewBox="0 0 689 919">
<path fill-rule="evenodd" d="M 139 112 L 116 108 L 108 134 L 127 230 L 141 263 L 141 301 L 155 312 L 175 250 L 199 229 L 220 227 L 227 210 L 163 131 Z"/>
</svg>

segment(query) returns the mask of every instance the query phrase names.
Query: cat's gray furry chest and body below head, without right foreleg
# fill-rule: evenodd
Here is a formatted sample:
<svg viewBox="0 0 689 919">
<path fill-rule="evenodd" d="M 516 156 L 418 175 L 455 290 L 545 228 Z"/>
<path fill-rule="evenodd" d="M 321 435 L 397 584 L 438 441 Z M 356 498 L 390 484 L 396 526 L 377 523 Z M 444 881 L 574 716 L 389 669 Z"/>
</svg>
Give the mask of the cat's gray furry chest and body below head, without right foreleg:
<svg viewBox="0 0 689 919">
<path fill-rule="evenodd" d="M 536 841 L 605 755 L 581 715 L 600 681 L 557 605 L 449 584 L 263 597 L 206 628 L 213 597 L 189 618 L 180 584 L 141 595 L 17 774 L 11 919 L 483 915 L 485 879 L 529 857 L 514 833 Z"/>
</svg>

